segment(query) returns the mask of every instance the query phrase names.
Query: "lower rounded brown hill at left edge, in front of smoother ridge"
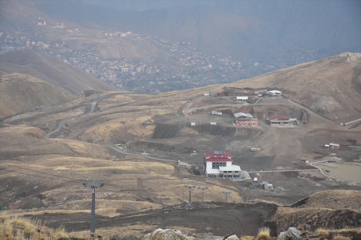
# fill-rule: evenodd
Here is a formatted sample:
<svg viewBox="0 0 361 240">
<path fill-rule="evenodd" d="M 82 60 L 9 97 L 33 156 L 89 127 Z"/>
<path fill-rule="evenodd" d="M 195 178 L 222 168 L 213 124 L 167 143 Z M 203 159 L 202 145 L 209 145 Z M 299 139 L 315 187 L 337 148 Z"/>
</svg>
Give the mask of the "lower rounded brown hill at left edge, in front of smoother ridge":
<svg viewBox="0 0 361 240">
<path fill-rule="evenodd" d="M 73 99 L 70 92 L 33 76 L 6 74 L 0 77 L 0 117 L 37 106 L 56 106 Z"/>
</svg>

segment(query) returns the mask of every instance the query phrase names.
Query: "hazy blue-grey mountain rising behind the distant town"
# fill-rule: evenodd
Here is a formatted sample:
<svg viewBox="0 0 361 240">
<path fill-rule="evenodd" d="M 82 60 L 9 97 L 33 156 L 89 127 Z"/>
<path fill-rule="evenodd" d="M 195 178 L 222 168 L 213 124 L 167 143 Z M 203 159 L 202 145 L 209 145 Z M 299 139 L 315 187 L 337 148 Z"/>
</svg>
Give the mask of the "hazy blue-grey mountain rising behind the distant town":
<svg viewBox="0 0 361 240">
<path fill-rule="evenodd" d="M 186 41 L 201 51 L 239 59 L 282 59 L 295 52 L 323 56 L 361 52 L 361 3 L 354 0 L 160 1 L 143 4 L 144 11 L 137 11 L 139 4 L 131 11 L 129 4 L 116 1 L 98 5 L 56 0 L 5 3 L 2 29 L 19 26 L 21 21 L 28 24 L 38 15 L 53 22 Z"/>
</svg>

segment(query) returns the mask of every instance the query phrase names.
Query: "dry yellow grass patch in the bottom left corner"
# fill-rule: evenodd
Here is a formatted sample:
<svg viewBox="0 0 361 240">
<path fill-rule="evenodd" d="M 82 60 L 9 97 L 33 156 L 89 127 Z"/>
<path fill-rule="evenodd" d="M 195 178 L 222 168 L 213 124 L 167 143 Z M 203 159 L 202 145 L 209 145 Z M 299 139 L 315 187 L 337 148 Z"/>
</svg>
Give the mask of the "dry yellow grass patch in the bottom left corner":
<svg viewBox="0 0 361 240">
<path fill-rule="evenodd" d="M 18 216 L 0 217 L 0 239 L 4 240 L 58 240 L 67 239 L 65 229 L 52 229 L 40 221 L 32 221 Z"/>
</svg>

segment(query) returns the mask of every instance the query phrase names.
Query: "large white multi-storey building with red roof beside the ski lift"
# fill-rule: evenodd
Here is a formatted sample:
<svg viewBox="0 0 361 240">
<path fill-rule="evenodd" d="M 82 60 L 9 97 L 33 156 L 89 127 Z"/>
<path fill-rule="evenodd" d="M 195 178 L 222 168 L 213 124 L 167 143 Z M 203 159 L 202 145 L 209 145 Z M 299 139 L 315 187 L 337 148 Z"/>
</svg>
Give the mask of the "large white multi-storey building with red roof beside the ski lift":
<svg viewBox="0 0 361 240">
<path fill-rule="evenodd" d="M 241 167 L 233 165 L 233 155 L 225 151 L 203 153 L 204 173 L 214 178 L 240 178 Z"/>
</svg>

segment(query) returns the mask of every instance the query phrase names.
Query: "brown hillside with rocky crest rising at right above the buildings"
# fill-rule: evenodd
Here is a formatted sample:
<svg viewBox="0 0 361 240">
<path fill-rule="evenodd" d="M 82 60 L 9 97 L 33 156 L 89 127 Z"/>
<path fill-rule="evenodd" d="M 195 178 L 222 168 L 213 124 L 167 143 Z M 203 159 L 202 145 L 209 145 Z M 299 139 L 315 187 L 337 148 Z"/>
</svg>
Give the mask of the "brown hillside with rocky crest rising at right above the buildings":
<svg viewBox="0 0 361 240">
<path fill-rule="evenodd" d="M 227 86 L 280 90 L 329 119 L 353 120 L 361 115 L 361 54 L 343 53 Z"/>
</svg>

